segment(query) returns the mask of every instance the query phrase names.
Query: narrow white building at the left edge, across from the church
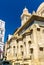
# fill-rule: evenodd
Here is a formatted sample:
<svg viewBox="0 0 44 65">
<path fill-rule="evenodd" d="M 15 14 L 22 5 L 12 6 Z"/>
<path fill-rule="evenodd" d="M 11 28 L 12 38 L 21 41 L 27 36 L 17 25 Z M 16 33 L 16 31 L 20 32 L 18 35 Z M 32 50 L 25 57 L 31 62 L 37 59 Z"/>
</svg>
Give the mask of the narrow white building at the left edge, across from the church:
<svg viewBox="0 0 44 65">
<path fill-rule="evenodd" d="M 5 22 L 0 20 L 0 59 L 3 58 L 4 35 L 5 35 Z"/>
</svg>

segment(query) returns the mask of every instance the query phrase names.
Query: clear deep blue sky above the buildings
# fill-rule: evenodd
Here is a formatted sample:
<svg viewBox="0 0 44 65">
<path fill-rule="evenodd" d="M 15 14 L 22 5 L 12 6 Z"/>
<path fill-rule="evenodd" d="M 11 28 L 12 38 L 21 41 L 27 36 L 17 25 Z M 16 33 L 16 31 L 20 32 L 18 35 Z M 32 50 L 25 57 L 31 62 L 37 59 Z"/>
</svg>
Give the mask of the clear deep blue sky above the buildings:
<svg viewBox="0 0 44 65">
<path fill-rule="evenodd" d="M 20 15 L 25 6 L 32 13 L 42 2 L 44 0 L 0 0 L 0 19 L 5 21 L 5 41 L 8 34 L 13 34 L 21 25 Z"/>
</svg>

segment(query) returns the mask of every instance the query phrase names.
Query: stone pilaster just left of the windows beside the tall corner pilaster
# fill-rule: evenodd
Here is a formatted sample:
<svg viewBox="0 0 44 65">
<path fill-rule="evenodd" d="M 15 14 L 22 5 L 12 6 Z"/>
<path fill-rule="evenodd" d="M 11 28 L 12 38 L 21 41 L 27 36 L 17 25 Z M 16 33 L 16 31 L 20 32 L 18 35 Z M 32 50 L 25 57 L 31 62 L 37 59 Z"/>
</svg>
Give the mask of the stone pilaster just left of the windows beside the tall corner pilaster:
<svg viewBox="0 0 44 65">
<path fill-rule="evenodd" d="M 29 58 L 29 41 L 30 41 L 30 36 L 29 33 L 25 33 L 24 34 L 25 38 L 23 39 L 23 43 L 24 43 L 24 56 L 25 58 Z"/>
</svg>

